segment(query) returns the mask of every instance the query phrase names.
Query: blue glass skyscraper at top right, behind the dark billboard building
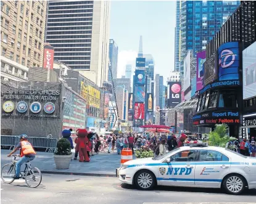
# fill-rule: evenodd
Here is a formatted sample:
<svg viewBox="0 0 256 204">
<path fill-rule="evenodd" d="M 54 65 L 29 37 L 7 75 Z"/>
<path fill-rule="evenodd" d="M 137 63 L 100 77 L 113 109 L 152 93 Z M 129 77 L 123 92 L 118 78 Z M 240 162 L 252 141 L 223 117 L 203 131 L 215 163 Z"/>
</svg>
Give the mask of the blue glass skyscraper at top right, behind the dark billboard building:
<svg viewBox="0 0 256 204">
<path fill-rule="evenodd" d="M 240 1 L 181 1 L 180 71 L 187 50 L 193 54 L 206 49 L 207 43 L 240 5 Z M 175 46 L 176 47 L 176 46 Z"/>
</svg>

